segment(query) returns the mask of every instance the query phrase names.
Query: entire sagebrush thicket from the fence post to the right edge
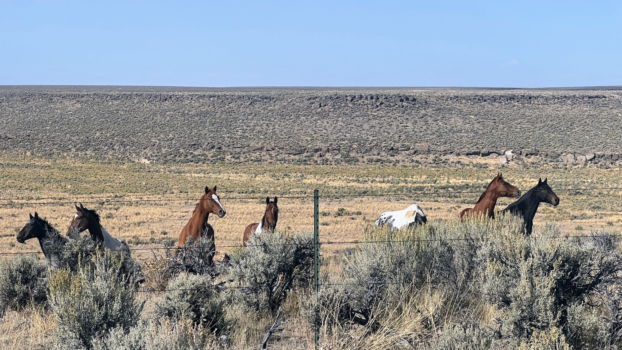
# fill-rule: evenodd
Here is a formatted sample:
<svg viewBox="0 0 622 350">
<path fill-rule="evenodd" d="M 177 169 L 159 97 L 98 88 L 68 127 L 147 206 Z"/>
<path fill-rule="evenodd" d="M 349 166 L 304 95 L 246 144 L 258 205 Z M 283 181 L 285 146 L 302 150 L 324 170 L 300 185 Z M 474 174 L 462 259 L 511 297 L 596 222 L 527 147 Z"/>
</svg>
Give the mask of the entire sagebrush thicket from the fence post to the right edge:
<svg viewBox="0 0 622 350">
<path fill-rule="evenodd" d="M 366 239 L 379 242 L 345 255 L 303 313 L 315 329 L 375 334 L 389 311 L 423 295 L 417 327 L 434 335 L 432 349 L 605 349 L 622 338 L 622 257 L 607 235 L 566 239 L 547 224 L 528 237 L 503 215 L 371 229 Z"/>
</svg>

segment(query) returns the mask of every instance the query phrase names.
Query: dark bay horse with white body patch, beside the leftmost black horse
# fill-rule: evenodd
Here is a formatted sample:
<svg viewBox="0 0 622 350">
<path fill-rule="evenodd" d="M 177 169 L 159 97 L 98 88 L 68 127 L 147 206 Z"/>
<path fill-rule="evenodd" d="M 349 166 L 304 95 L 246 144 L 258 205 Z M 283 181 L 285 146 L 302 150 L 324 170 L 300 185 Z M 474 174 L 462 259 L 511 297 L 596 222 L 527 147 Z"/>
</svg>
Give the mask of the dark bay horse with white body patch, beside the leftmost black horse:
<svg viewBox="0 0 622 350">
<path fill-rule="evenodd" d="M 93 209 L 86 209 L 80 203 L 80 207 L 75 204 L 76 214 L 73 215 L 67 235 L 71 236 L 73 232 L 84 232 L 88 230 L 91 239 L 97 247 L 103 247 L 109 250 L 122 250 L 127 244 L 122 240 L 113 238 L 106 229 L 100 224 L 100 215 Z"/>
</svg>

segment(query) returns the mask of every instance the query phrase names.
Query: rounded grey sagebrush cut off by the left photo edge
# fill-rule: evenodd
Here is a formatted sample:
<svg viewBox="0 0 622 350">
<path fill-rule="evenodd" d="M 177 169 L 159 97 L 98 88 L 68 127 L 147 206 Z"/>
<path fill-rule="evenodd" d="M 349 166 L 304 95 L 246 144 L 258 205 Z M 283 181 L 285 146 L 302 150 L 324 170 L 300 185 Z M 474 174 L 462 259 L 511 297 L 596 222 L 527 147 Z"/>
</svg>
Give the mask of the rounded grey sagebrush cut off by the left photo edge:
<svg viewBox="0 0 622 350">
<path fill-rule="evenodd" d="M 0 260 L 0 318 L 7 310 L 47 300 L 47 268 L 32 255 Z"/>
</svg>

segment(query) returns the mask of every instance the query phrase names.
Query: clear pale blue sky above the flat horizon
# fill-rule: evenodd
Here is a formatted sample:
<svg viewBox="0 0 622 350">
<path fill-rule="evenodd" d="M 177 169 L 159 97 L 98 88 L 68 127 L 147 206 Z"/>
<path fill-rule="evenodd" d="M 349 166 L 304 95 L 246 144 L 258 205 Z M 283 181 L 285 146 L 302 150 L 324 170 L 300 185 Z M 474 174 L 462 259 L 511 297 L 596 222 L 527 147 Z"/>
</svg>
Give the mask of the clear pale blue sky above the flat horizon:
<svg viewBox="0 0 622 350">
<path fill-rule="evenodd" d="M 5 1 L 0 85 L 622 85 L 622 1 Z"/>
</svg>

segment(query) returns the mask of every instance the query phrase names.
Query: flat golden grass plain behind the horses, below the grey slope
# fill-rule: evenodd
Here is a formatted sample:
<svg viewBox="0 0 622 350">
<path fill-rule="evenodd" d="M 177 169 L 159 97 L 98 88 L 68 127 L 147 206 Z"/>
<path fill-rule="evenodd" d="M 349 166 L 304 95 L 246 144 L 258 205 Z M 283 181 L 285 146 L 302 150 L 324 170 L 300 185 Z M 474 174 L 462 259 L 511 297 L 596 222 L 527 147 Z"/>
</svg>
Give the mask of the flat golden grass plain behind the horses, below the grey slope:
<svg viewBox="0 0 622 350">
<path fill-rule="evenodd" d="M 248 167 L 221 164 L 207 166 L 147 166 L 145 164 L 100 163 L 72 159 L 0 157 L 0 199 L 2 202 L 89 201 L 99 199 L 180 199 L 187 201 L 123 202 L 86 204 L 98 210 L 102 224 L 132 247 L 162 247 L 166 239 L 177 242 L 180 230 L 192 214 L 205 185 L 218 184 L 221 197 L 260 197 L 274 194 L 355 194 L 373 192 L 483 191 L 498 169 L 483 158 L 455 158 L 468 166 L 432 168 L 384 166 L 284 166 L 259 164 Z M 458 164 L 455 163 L 455 164 Z M 529 189 L 539 176 L 549 176 L 554 188 L 611 187 L 621 183 L 620 169 L 560 168 L 542 165 L 503 169 L 508 181 Z M 622 191 L 558 191 L 557 207 L 542 204 L 536 224 L 555 220 L 567 232 L 585 234 L 602 227 L 621 227 Z M 115 198 L 115 196 L 117 196 Z M 361 239 L 364 228 L 384 211 L 403 209 L 413 202 L 425 210 L 430 220 L 455 219 L 460 210 L 472 206 L 479 193 L 442 196 L 323 197 L 320 202 L 320 237 L 323 242 Z M 220 253 L 241 244 L 244 227 L 261 219 L 265 199 L 223 199 L 227 215 L 210 217 Z M 313 199 L 279 200 L 278 228 L 285 232 L 313 229 Z M 498 208 L 511 203 L 502 198 Z M 339 208 L 360 215 L 335 216 Z M 73 204 L 0 206 L 0 252 L 39 251 L 29 240 L 19 244 L 14 236 L 26 223 L 29 212 L 39 212 L 63 234 L 75 214 Z M 582 229 L 582 230 L 577 230 Z M 583 232 L 581 232 L 583 231 Z M 224 246 L 224 247 L 223 247 Z M 332 253 L 352 245 L 324 245 Z M 161 250 L 155 251 L 161 254 Z M 151 256 L 140 250 L 137 256 Z"/>
</svg>

